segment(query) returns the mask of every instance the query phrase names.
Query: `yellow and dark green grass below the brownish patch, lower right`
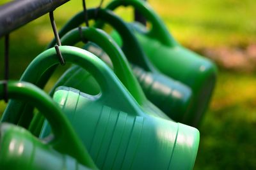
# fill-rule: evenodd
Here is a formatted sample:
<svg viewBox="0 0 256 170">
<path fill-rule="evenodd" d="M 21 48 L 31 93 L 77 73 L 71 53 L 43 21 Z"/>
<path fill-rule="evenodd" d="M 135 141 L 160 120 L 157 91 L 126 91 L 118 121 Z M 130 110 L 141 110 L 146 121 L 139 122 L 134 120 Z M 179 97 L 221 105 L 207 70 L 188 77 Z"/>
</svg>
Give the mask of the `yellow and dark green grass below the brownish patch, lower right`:
<svg viewBox="0 0 256 170">
<path fill-rule="evenodd" d="M 220 71 L 195 169 L 256 169 L 254 74 Z"/>
</svg>

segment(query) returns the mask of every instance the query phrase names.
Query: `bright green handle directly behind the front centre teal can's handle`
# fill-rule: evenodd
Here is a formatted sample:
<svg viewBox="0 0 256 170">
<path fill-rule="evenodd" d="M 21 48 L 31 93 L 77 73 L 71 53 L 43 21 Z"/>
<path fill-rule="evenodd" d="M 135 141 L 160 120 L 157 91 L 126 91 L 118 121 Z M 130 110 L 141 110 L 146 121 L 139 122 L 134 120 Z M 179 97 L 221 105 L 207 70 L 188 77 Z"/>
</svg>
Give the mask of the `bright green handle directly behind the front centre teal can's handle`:
<svg viewBox="0 0 256 170">
<path fill-rule="evenodd" d="M 81 35 L 82 33 L 82 35 Z M 75 45 L 81 41 L 81 36 L 88 41 L 99 45 L 110 57 L 116 76 L 122 81 L 125 87 L 129 90 L 136 101 L 141 104 L 146 100 L 143 90 L 140 84 L 136 80 L 134 74 L 132 73 L 129 62 L 127 61 L 124 53 L 116 45 L 115 41 L 106 34 L 106 32 L 95 29 L 93 27 L 83 27 L 81 32 L 79 29 L 73 29 L 61 38 L 62 45 Z"/>
</svg>

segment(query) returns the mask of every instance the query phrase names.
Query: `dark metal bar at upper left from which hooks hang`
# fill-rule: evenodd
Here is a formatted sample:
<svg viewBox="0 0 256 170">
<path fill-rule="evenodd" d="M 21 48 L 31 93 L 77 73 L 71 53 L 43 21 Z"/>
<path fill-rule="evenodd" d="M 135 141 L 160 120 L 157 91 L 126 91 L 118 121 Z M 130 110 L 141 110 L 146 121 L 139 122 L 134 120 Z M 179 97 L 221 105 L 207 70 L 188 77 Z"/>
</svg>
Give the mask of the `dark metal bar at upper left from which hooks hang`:
<svg viewBox="0 0 256 170">
<path fill-rule="evenodd" d="M 0 6 L 0 37 L 70 0 L 19 0 Z"/>
</svg>

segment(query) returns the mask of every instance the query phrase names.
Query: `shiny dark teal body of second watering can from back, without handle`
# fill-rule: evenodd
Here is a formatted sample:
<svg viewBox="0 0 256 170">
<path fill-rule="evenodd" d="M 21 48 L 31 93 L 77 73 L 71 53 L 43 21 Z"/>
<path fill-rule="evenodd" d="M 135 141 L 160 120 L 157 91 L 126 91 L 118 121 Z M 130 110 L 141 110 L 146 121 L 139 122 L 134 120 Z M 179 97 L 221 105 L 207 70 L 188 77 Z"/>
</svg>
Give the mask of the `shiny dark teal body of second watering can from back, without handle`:
<svg viewBox="0 0 256 170">
<path fill-rule="evenodd" d="M 108 55 L 99 46 L 94 43 L 88 43 L 84 48 L 104 60 L 109 66 L 112 65 Z M 154 74 L 133 64 L 131 66 L 147 98 L 164 113 L 167 113 L 168 117 L 177 122 L 185 122 L 184 118 L 189 113 L 188 111 L 191 106 L 189 102 L 191 91 L 186 90 L 186 88 L 182 89 L 184 85 L 179 81 L 170 81 L 163 74 Z M 70 87 L 70 84 L 67 86 Z"/>
</svg>

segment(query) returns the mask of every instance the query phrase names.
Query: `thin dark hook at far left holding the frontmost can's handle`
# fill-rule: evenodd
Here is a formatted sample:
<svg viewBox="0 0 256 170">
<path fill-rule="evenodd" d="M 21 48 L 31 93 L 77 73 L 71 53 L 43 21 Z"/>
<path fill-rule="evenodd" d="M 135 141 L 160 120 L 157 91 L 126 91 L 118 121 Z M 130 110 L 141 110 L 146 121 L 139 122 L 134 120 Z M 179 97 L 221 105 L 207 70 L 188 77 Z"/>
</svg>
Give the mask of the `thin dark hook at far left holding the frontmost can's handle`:
<svg viewBox="0 0 256 170">
<path fill-rule="evenodd" d="M 8 103 L 8 80 L 9 80 L 9 34 L 4 39 L 4 102 Z"/>
</svg>

